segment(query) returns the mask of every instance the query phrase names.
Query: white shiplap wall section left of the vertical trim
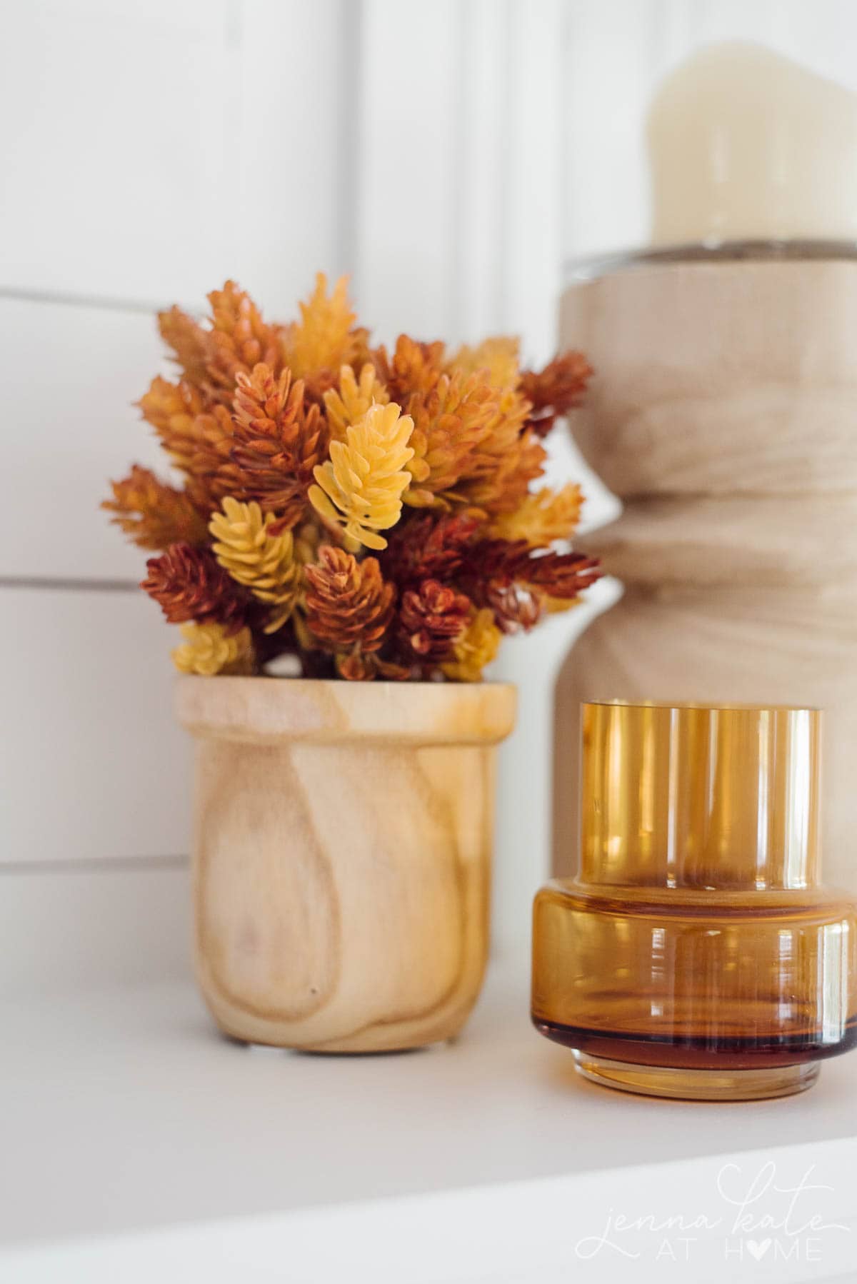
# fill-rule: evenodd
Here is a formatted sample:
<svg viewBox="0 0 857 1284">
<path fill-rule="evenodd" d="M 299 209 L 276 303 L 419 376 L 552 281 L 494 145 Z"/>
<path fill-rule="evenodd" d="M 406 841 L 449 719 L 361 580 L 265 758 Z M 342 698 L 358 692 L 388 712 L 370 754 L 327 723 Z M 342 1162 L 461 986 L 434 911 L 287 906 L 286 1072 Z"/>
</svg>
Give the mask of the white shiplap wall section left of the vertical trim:
<svg viewBox="0 0 857 1284">
<path fill-rule="evenodd" d="M 155 451 L 153 309 L 347 268 L 358 9 L 30 0 L 0 39 L 4 980 L 184 967 L 189 746 L 144 555 L 98 508 Z M 324 86 L 320 85 L 320 77 Z"/>
</svg>

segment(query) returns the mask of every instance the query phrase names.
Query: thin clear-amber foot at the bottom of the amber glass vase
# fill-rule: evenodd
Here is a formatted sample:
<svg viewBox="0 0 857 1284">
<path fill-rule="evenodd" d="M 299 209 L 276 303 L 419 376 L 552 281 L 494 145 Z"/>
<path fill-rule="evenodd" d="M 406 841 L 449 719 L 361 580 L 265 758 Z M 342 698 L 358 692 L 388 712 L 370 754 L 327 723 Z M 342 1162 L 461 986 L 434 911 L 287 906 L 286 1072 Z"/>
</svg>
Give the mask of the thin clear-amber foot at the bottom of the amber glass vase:
<svg viewBox="0 0 857 1284">
<path fill-rule="evenodd" d="M 754 1102 L 766 1097 L 791 1097 L 812 1088 L 820 1070 L 817 1061 L 759 1070 L 681 1070 L 610 1061 L 577 1048 L 573 1052 L 578 1075 L 603 1088 L 694 1102 Z"/>
</svg>

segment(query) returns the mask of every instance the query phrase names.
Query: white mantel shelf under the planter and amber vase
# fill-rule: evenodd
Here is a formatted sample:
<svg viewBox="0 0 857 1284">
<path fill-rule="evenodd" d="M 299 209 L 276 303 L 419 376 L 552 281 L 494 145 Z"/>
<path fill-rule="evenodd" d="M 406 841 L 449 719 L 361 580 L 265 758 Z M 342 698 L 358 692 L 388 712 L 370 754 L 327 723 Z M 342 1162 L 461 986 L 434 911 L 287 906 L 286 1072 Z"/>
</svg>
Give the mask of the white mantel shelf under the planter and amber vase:
<svg viewBox="0 0 857 1284">
<path fill-rule="evenodd" d="M 524 957 L 495 963 L 457 1044 L 375 1057 L 233 1044 L 189 981 L 4 1000 L 0 1280 L 857 1278 L 857 1057 L 777 1102 L 628 1097 L 536 1035 L 526 985 Z M 718 1174 L 736 1165 L 721 1184 L 740 1198 L 767 1161 L 780 1185 L 813 1167 L 833 1188 L 802 1195 L 798 1222 L 848 1229 L 730 1234 Z M 583 1260 L 610 1210 L 685 1229 Z M 718 1225 L 687 1230 L 700 1215 Z"/>
</svg>

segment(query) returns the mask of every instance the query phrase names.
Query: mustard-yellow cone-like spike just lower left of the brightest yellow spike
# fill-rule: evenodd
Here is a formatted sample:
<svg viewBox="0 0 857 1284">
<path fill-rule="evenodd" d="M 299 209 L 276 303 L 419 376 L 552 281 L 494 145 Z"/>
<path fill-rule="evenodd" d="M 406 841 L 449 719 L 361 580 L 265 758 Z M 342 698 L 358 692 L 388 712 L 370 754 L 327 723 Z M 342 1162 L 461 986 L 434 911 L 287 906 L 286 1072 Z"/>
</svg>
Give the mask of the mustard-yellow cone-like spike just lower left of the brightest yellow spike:
<svg viewBox="0 0 857 1284">
<path fill-rule="evenodd" d="M 266 633 L 285 624 L 301 589 L 301 566 L 290 530 L 271 534 L 276 519 L 257 503 L 240 503 L 227 496 L 221 512 L 212 515 L 208 529 L 215 556 L 233 579 L 271 607 Z"/>
</svg>

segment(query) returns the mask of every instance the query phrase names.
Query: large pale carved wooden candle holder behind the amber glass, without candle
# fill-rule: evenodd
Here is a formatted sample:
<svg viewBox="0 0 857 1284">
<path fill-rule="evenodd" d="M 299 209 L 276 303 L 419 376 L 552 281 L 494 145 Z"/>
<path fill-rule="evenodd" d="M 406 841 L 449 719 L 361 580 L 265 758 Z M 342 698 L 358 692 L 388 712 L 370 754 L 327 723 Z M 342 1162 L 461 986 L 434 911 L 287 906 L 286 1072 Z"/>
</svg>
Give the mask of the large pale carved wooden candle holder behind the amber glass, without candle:
<svg viewBox="0 0 857 1284">
<path fill-rule="evenodd" d="M 825 873 L 857 890 L 857 261 L 781 254 L 667 256 L 565 291 L 563 345 L 596 370 L 574 437 L 624 507 L 581 544 L 624 594 L 559 679 L 556 872 L 581 701 L 799 705 L 826 710 Z"/>
</svg>

